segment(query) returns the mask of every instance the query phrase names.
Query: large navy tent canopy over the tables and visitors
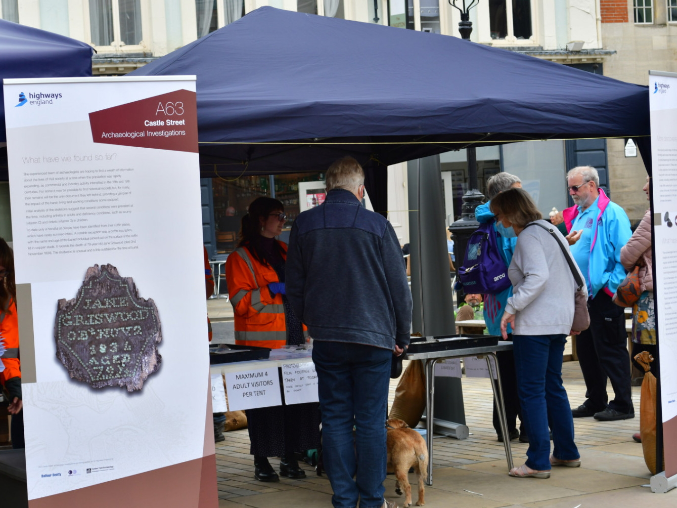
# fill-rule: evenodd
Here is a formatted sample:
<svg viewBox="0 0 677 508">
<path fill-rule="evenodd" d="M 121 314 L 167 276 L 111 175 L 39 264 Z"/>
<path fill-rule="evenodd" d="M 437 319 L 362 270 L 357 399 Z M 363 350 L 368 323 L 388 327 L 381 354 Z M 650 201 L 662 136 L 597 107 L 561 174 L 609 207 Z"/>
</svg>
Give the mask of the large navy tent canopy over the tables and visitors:
<svg viewBox="0 0 677 508">
<path fill-rule="evenodd" d="M 203 176 L 385 167 L 469 145 L 649 135 L 647 87 L 463 41 L 261 7 L 132 75 L 197 75 Z"/>
</svg>

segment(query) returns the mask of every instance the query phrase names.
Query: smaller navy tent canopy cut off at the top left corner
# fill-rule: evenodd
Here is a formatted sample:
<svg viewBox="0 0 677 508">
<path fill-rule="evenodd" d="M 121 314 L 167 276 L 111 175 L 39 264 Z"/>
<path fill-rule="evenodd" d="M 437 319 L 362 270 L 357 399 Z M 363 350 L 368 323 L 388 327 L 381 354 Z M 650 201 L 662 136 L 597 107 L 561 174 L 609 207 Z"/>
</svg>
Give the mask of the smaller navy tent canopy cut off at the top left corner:
<svg viewBox="0 0 677 508">
<path fill-rule="evenodd" d="M 92 52 L 70 37 L 0 20 L 0 79 L 91 76 Z M 0 87 L 0 143 L 7 142 L 3 104 Z"/>
</svg>

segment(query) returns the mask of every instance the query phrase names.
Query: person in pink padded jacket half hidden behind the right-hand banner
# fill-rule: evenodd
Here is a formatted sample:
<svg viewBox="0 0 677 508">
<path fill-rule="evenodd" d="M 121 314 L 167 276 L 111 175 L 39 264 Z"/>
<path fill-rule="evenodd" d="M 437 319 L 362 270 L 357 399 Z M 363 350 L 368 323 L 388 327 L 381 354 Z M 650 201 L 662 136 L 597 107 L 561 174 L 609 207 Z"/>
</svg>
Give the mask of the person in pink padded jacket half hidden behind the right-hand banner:
<svg viewBox="0 0 677 508">
<path fill-rule="evenodd" d="M 642 190 L 649 200 L 649 177 Z M 651 209 L 647 210 L 628 243 L 621 247 L 621 263 L 628 272 L 639 266 L 639 282 L 642 294 L 632 307 L 632 358 L 642 351 L 656 356 L 656 315 L 653 308 L 653 257 L 651 255 Z M 655 372 L 656 362 L 651 364 Z M 640 442 L 639 433 L 632 438 Z"/>
</svg>

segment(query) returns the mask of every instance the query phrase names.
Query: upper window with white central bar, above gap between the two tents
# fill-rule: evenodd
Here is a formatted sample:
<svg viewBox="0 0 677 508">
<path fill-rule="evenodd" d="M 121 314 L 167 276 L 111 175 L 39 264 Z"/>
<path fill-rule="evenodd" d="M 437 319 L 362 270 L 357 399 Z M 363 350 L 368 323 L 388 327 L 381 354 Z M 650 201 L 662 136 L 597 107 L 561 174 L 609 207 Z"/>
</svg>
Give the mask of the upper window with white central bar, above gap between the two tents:
<svg viewBox="0 0 677 508">
<path fill-rule="evenodd" d="M 89 0 L 91 43 L 95 46 L 141 43 L 141 0 Z"/>
</svg>

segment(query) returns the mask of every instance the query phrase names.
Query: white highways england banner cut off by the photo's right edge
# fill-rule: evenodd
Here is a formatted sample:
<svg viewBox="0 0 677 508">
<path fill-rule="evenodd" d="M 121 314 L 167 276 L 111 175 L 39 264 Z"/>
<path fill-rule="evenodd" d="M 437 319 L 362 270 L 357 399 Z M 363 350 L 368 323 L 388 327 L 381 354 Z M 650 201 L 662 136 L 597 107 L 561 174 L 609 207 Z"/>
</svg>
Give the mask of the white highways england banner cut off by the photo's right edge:
<svg viewBox="0 0 677 508">
<path fill-rule="evenodd" d="M 654 293 L 665 476 L 677 474 L 677 74 L 649 72 Z"/>
</svg>

